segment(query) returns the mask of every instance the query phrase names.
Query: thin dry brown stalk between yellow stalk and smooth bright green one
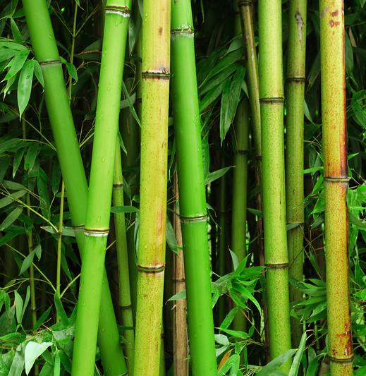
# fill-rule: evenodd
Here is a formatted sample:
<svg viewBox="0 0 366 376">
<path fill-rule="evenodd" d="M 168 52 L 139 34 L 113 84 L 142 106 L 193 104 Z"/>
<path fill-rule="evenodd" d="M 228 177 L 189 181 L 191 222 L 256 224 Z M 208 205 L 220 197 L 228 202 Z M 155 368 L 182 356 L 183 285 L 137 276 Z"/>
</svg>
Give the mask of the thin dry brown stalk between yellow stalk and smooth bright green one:
<svg viewBox="0 0 366 376">
<path fill-rule="evenodd" d="M 174 193 L 176 196 L 176 210 L 173 217 L 173 226 L 176 233 L 177 245 L 183 245 L 182 228 L 179 220 L 178 206 L 178 178 L 174 175 Z M 173 293 L 185 290 L 185 274 L 183 250 L 173 255 Z M 180 299 L 175 302 L 173 309 L 173 365 L 175 376 L 188 376 L 188 338 L 187 338 L 187 301 Z"/>
</svg>

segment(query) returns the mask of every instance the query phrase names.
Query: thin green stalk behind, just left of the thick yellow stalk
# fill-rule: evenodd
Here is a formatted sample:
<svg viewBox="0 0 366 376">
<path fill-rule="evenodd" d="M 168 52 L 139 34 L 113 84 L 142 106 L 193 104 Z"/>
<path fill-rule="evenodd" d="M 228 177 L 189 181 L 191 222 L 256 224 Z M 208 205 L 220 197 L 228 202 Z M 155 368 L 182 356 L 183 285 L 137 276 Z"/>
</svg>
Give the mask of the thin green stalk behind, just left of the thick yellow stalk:
<svg viewBox="0 0 366 376">
<path fill-rule="evenodd" d="M 114 160 L 113 205 L 124 205 L 121 148 L 118 141 Z M 135 334 L 133 331 L 133 313 L 130 297 L 130 274 L 128 272 L 126 222 L 125 214 L 123 212 L 114 214 L 114 227 L 116 231 L 116 250 L 118 262 L 119 308 L 121 310 L 122 325 L 126 328 L 123 333 L 126 339 L 125 348 L 128 360 L 128 374 L 133 375 Z"/>
</svg>

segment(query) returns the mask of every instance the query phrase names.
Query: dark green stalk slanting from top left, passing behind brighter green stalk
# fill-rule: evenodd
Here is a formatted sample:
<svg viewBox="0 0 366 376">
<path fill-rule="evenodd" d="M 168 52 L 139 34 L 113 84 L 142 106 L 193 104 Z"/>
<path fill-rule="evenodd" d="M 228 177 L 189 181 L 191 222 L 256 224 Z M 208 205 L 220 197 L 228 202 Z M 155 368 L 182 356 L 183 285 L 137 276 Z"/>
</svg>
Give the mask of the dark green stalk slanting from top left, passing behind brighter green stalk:
<svg viewBox="0 0 366 376">
<path fill-rule="evenodd" d="M 78 242 L 80 254 L 83 255 L 87 180 L 63 78 L 59 51 L 49 18 L 47 2 L 44 0 L 23 0 L 23 8 L 33 51 L 42 67 L 44 96 L 49 113 L 49 121 L 65 182 L 68 207 L 75 228 L 76 241 Z M 121 351 L 116 317 L 105 272 L 102 289 L 98 346 L 104 374 L 116 376 L 124 374 L 127 369 Z"/>
</svg>

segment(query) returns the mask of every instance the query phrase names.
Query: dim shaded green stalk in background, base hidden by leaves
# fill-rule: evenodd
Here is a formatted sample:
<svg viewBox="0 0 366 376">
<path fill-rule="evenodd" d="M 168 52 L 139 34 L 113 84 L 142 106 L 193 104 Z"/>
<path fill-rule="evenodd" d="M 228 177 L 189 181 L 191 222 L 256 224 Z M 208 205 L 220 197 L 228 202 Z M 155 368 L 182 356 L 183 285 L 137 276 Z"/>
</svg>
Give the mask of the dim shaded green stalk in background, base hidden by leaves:
<svg viewBox="0 0 366 376">
<path fill-rule="evenodd" d="M 234 119 L 234 148 L 233 165 L 233 209 L 231 216 L 231 248 L 242 262 L 247 254 L 247 186 L 248 186 L 248 144 L 249 144 L 249 114 L 248 99 L 243 98 L 236 110 Z M 233 328 L 245 332 L 246 320 L 239 311 L 233 320 Z"/>
</svg>

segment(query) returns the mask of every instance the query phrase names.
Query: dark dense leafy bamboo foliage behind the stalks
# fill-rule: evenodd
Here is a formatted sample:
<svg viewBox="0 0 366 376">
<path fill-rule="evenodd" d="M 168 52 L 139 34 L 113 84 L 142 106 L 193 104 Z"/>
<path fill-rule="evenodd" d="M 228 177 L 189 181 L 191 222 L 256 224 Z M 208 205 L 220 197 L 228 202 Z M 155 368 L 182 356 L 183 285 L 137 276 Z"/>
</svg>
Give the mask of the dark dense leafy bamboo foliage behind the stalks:
<svg viewBox="0 0 366 376">
<path fill-rule="evenodd" d="M 346 1 L 346 93 L 348 123 L 348 189 L 350 293 L 355 375 L 366 373 L 366 1 Z M 142 1 L 134 1 L 121 98 L 121 148 L 126 158 L 126 127 L 138 127 L 138 38 Z M 52 25 L 63 62 L 66 86 L 86 171 L 90 169 L 93 126 L 101 58 L 102 1 L 49 1 Z M 236 16 L 229 1 L 193 2 L 202 142 L 209 210 L 212 291 L 219 375 L 269 375 L 295 354 L 285 354 L 267 368 L 264 336 L 266 302 L 258 250 L 255 158 L 248 154 L 248 257 L 238 265 L 230 251 L 233 119 L 239 100 L 248 95 L 243 45 L 233 37 Z M 256 13 L 255 13 L 256 14 Z M 286 66 L 288 4 L 283 1 L 283 56 Z M 255 16 L 257 35 L 257 16 Z M 257 40 L 260 43 L 260 40 Z M 320 102 L 319 11 L 308 1 L 305 85 L 305 226 L 304 281 L 291 281 L 303 291 L 292 306 L 306 328 L 298 351 L 303 375 L 325 375 L 327 364 L 327 301 L 324 269 L 324 181 Z M 70 224 L 67 199 L 44 106 L 43 78 L 32 54 L 22 4 L 0 0 L 0 375 L 66 375 L 71 372 L 75 304 L 80 257 Z M 286 115 L 286 105 L 285 105 Z M 127 122 L 126 122 L 127 119 Z M 169 122 L 169 219 L 167 224 L 165 301 L 173 295 L 171 258 L 177 250 L 173 231 L 173 176 L 176 171 L 173 119 Z M 138 129 L 138 128 L 137 128 Z M 251 138 L 250 138 L 251 140 Z M 139 145 L 138 132 L 128 142 Z M 251 142 L 251 141 L 250 141 Z M 140 160 L 123 162 L 127 227 L 138 234 Z M 66 192 L 67 195 L 67 192 Z M 121 211 L 121 209 L 119 209 Z M 112 212 L 118 212 L 118 208 Z M 60 221 L 61 217 L 61 221 Z M 113 219 L 112 219 L 113 220 Z M 291 227 L 291 225 L 289 225 Z M 291 228 L 288 229 L 291 229 Z M 113 228 L 113 226 L 111 226 Z M 224 249 L 225 269 L 219 266 Z M 59 250 L 59 252 L 58 252 Z M 118 305 L 114 234 L 109 236 L 106 269 Z M 60 286 L 57 281 L 60 279 Z M 58 291 L 59 293 L 56 293 Z M 32 298 L 31 298 L 32 297 Z M 177 298 L 177 297 L 176 297 Z M 178 298 L 184 298 L 180 294 Z M 171 375 L 173 339 L 171 310 L 164 305 L 166 373 Z M 238 309 L 248 317 L 247 332 L 229 329 Z M 118 310 L 116 310 L 119 316 Z M 121 317 L 118 317 L 120 320 Z M 42 356 L 41 356 L 42 354 Z M 239 358 L 242 356 L 239 370 Z M 33 367 L 36 364 L 37 367 Z M 35 370 L 35 371 L 34 371 Z M 102 374 L 97 363 L 96 373 Z M 242 372 L 242 373 L 240 373 Z M 275 373 L 272 373 L 273 375 Z M 271 375 L 272 375 L 271 374 Z M 299 373 L 300 374 L 300 373 Z M 295 374 L 294 374 L 295 375 Z"/>
</svg>

